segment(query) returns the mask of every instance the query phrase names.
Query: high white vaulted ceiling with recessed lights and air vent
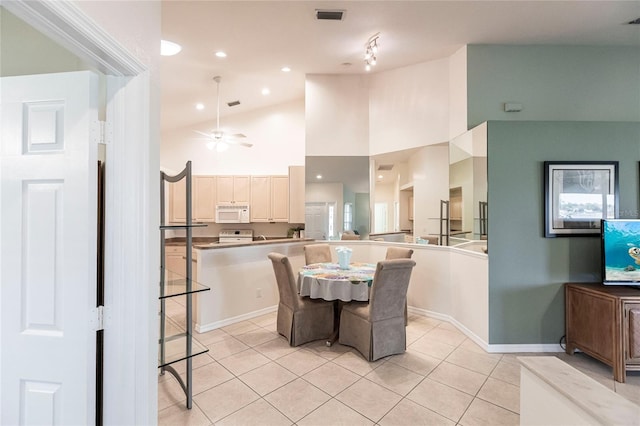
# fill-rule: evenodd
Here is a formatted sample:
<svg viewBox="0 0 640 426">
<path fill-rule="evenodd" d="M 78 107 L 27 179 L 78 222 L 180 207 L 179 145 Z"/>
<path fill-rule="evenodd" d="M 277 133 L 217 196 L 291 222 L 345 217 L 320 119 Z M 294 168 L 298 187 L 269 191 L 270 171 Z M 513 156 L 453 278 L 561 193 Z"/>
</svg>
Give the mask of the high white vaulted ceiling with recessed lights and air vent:
<svg viewBox="0 0 640 426">
<path fill-rule="evenodd" d="M 344 10 L 344 19 L 316 20 L 316 9 Z M 466 44 L 640 46 L 640 25 L 628 24 L 637 18 L 640 1 L 164 0 L 162 37 L 183 49 L 162 58 L 162 128 L 215 127 L 216 75 L 225 116 L 302 98 L 306 74 L 365 73 L 365 42 L 378 32 L 371 72 Z M 217 58 L 218 50 L 228 56 Z"/>
</svg>

